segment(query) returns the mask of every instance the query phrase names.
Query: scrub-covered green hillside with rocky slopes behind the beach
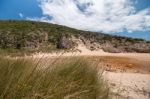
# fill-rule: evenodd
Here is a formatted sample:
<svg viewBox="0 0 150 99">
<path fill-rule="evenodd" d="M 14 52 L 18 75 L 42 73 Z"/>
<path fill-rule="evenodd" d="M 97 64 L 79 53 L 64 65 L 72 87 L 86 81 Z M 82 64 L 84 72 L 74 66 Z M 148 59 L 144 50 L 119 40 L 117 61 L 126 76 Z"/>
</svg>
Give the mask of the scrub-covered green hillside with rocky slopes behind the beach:
<svg viewBox="0 0 150 99">
<path fill-rule="evenodd" d="M 33 21 L 0 21 L 0 49 L 49 52 L 75 49 L 83 43 L 90 50 L 150 53 L 150 42 L 81 31 L 56 24 Z"/>
</svg>

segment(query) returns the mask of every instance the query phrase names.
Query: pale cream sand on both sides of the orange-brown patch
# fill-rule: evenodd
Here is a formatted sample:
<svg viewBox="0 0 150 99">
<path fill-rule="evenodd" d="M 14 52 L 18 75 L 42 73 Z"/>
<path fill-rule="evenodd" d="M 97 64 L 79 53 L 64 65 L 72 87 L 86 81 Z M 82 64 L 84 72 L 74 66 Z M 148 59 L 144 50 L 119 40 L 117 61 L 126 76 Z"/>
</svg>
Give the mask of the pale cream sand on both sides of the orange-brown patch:
<svg viewBox="0 0 150 99">
<path fill-rule="evenodd" d="M 69 56 L 99 56 L 99 57 L 124 57 L 134 59 L 135 63 L 139 65 L 144 64 L 150 68 L 150 54 L 147 53 L 107 53 L 103 50 L 90 51 L 84 45 L 78 46 L 76 52 L 61 52 L 61 53 L 36 53 L 32 55 L 33 58 L 45 57 L 69 57 Z M 120 60 L 118 60 L 120 61 Z M 113 60 L 113 62 L 117 62 Z M 112 62 L 112 63 L 113 63 Z M 126 62 L 125 62 L 126 63 Z M 146 64 L 145 64 L 146 63 Z M 124 63 L 123 63 L 124 64 Z M 150 73 L 148 72 L 111 72 L 105 71 L 103 74 L 105 80 L 108 82 L 112 92 L 120 95 L 119 98 L 114 99 L 150 99 Z"/>
</svg>

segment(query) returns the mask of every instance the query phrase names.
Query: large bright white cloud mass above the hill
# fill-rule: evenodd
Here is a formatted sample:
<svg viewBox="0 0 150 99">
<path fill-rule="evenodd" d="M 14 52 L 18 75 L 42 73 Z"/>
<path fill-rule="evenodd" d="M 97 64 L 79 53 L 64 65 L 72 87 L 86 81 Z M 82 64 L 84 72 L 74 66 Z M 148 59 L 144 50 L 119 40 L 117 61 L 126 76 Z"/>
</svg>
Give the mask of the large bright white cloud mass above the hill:
<svg viewBox="0 0 150 99">
<path fill-rule="evenodd" d="M 44 17 L 33 20 L 108 33 L 150 30 L 150 8 L 138 12 L 134 7 L 137 2 L 133 2 L 136 0 L 39 1 Z"/>
</svg>

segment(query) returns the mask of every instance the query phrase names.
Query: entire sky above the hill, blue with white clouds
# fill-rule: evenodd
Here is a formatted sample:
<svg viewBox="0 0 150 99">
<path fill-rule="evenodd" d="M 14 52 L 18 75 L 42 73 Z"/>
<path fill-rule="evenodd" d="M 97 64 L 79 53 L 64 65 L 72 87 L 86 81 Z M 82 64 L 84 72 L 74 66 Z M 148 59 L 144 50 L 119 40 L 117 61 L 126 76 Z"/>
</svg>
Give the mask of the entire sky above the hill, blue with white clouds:
<svg viewBox="0 0 150 99">
<path fill-rule="evenodd" d="M 0 20 L 8 19 L 150 40 L 150 0 L 0 0 Z"/>
</svg>

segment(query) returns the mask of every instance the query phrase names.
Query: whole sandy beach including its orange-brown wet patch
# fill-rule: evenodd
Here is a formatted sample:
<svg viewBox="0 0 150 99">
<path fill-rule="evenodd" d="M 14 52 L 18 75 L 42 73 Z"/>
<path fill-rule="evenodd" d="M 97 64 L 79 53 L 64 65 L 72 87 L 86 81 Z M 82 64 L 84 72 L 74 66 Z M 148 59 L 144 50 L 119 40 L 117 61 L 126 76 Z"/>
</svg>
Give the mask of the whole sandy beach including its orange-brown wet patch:
<svg viewBox="0 0 150 99">
<path fill-rule="evenodd" d="M 115 67 L 111 67 L 114 70 L 109 68 L 103 74 L 110 90 L 118 94 L 114 99 L 150 99 L 150 54 L 90 51 L 83 45 L 79 45 L 77 49 L 77 52 L 36 53 L 31 57 L 88 56 L 102 58 L 105 60 L 103 61 L 105 65 Z M 119 71 L 118 67 L 124 71 Z"/>
</svg>

